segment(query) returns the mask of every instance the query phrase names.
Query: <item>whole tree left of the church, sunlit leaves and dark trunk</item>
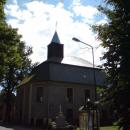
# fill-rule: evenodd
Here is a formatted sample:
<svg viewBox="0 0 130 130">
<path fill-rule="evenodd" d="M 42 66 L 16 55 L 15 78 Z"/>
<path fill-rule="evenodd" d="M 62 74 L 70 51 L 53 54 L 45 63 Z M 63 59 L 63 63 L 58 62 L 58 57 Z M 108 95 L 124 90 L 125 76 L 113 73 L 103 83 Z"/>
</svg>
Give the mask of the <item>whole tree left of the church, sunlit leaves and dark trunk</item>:
<svg viewBox="0 0 130 130">
<path fill-rule="evenodd" d="M 0 86 L 5 94 L 6 117 L 10 120 L 13 92 L 20 81 L 30 73 L 33 65 L 28 58 L 32 48 L 21 41 L 17 29 L 13 29 L 5 22 L 5 1 L 0 2 Z"/>
</svg>

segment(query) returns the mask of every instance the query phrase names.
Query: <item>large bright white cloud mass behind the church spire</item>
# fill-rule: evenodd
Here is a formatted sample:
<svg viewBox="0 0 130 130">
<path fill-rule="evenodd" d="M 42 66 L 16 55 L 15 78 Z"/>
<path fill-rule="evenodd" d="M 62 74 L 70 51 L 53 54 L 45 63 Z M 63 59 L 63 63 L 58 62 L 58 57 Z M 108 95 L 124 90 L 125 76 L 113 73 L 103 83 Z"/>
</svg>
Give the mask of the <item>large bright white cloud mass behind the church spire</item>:
<svg viewBox="0 0 130 130">
<path fill-rule="evenodd" d="M 73 0 L 74 3 L 80 3 L 80 0 Z M 98 11 L 94 7 L 75 5 L 73 12 L 64 9 L 63 3 L 59 2 L 56 6 L 41 1 L 32 1 L 20 8 L 17 1 L 7 5 L 5 12 L 9 18 L 8 23 L 19 29 L 23 35 L 23 40 L 27 45 L 33 47 L 33 62 L 42 62 L 46 59 L 47 45 L 51 42 L 55 31 L 56 21 L 57 32 L 62 44 L 65 47 L 65 56 L 77 56 L 92 62 L 91 49 L 84 48 L 81 43 L 72 41 L 72 37 L 77 37 L 92 46 L 98 46 L 91 28 L 86 21 L 92 23 L 94 15 Z M 84 20 L 81 22 L 75 19 L 81 15 Z M 96 50 L 95 61 L 100 63 L 100 51 Z"/>
</svg>

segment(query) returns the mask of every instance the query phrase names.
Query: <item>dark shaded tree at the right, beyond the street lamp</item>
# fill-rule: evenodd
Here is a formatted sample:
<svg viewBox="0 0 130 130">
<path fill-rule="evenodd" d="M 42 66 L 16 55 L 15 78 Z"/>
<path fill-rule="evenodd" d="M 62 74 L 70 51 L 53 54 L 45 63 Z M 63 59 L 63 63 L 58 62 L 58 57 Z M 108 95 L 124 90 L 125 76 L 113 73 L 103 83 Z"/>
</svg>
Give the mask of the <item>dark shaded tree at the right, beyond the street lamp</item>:
<svg viewBox="0 0 130 130">
<path fill-rule="evenodd" d="M 109 6 L 99 6 L 108 18 L 104 25 L 94 25 L 105 48 L 103 64 L 111 83 L 105 101 L 111 105 L 123 130 L 130 130 L 130 1 L 105 0 Z"/>
</svg>

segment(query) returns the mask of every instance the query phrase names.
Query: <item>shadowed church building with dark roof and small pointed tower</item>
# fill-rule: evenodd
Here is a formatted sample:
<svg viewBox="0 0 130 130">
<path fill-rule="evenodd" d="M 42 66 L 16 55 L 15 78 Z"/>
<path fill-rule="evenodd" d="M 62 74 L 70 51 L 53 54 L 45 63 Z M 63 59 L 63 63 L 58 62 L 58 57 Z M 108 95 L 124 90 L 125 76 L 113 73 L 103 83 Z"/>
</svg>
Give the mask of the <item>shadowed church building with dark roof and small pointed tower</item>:
<svg viewBox="0 0 130 130">
<path fill-rule="evenodd" d="M 64 45 L 55 31 L 47 60 L 35 67 L 17 88 L 19 121 L 44 125 L 46 119 L 55 120 L 62 111 L 66 122 L 73 124 L 78 121 L 78 110 L 86 99 L 95 101 L 95 85 L 105 86 L 103 70 L 90 64 L 63 63 L 63 59 Z"/>
</svg>

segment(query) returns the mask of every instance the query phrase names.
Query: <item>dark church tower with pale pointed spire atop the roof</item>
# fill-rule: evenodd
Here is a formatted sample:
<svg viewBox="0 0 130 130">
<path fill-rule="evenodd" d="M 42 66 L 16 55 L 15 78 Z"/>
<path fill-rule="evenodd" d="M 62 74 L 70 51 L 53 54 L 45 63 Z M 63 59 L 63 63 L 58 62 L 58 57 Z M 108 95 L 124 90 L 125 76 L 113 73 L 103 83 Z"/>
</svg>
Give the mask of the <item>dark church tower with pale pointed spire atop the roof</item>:
<svg viewBox="0 0 130 130">
<path fill-rule="evenodd" d="M 48 45 L 48 61 L 61 62 L 63 59 L 64 46 L 60 43 L 57 32 L 55 31 L 51 43 Z"/>
</svg>

